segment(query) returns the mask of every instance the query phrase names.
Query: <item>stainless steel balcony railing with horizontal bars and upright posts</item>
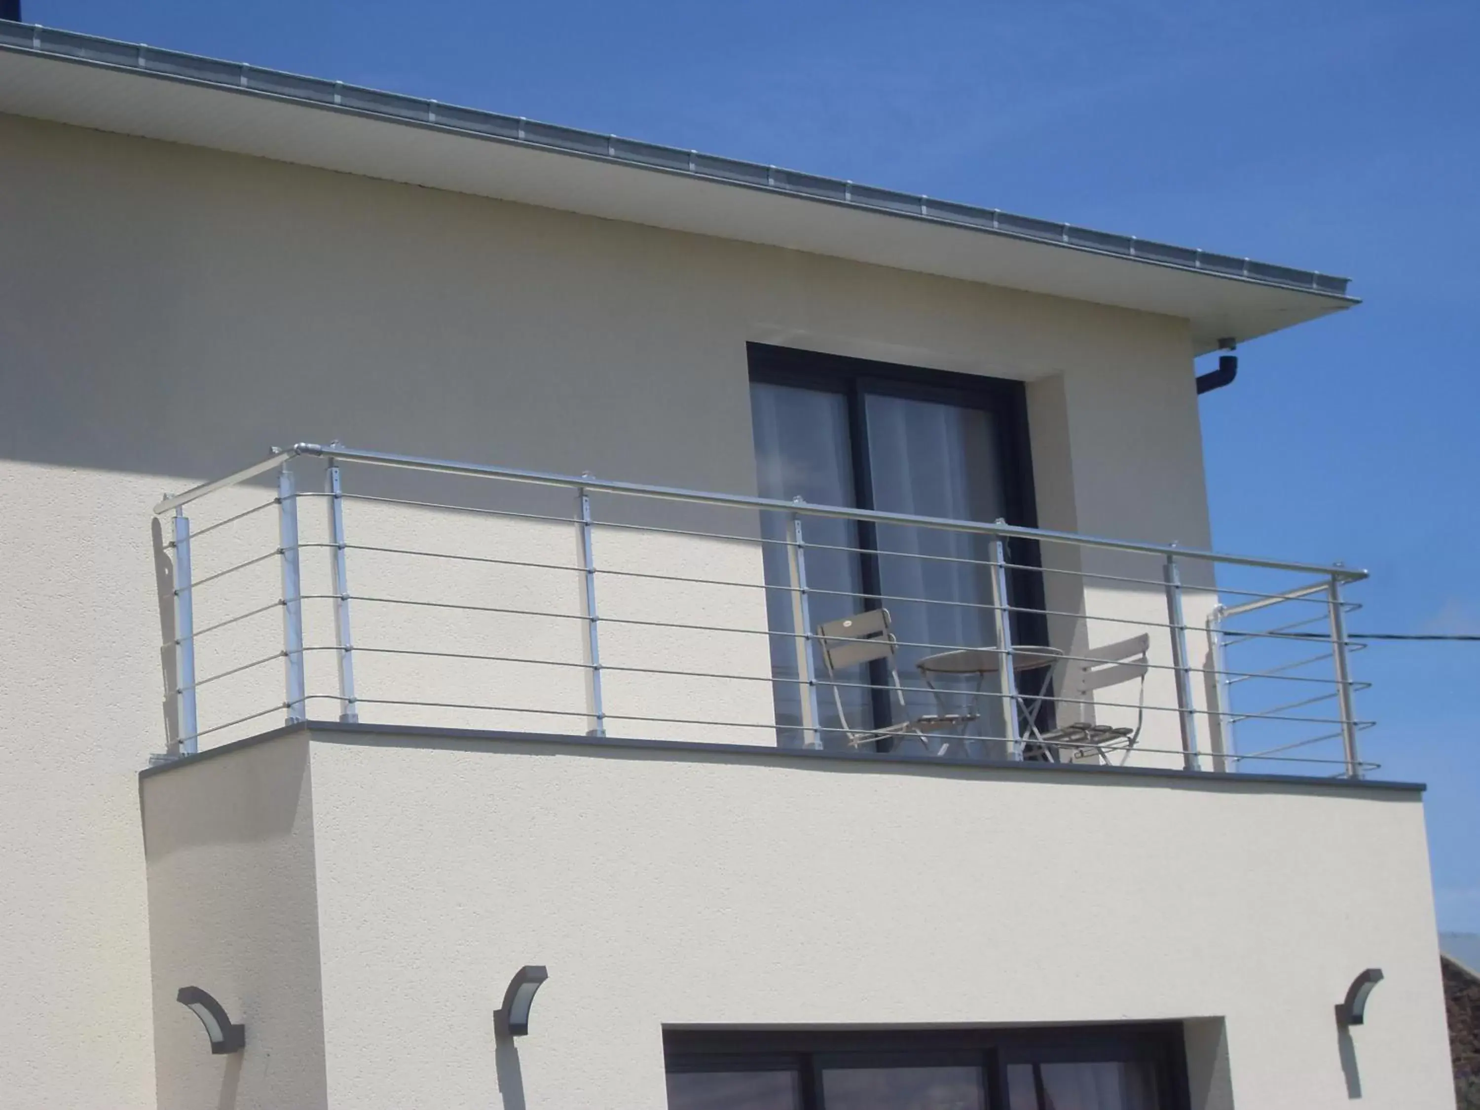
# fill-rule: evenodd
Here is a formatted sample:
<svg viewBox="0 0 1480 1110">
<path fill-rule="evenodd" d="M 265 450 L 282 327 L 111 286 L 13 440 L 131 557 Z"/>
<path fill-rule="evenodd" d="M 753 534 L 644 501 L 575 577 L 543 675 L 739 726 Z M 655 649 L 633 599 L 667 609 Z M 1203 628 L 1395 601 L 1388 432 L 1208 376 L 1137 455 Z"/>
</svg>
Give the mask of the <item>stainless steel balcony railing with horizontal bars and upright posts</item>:
<svg viewBox="0 0 1480 1110">
<path fill-rule="evenodd" d="M 299 471 L 314 460 L 323 462 L 323 491 L 299 490 Z M 413 496 L 395 482 L 383 491 L 348 493 L 343 471 L 351 466 L 363 469 L 366 481 L 371 471 L 419 482 L 475 480 L 480 493 L 434 497 L 419 487 Z M 241 508 L 241 499 L 258 488 L 253 480 L 274 471 L 275 496 Z M 530 491 L 571 502 L 564 508 L 531 506 L 525 503 Z M 303 536 L 299 505 L 315 499 L 326 506 L 321 533 Z M 598 512 L 598 499 L 611 511 Z M 351 536 L 346 503 L 380 515 L 355 522 Z M 188 508 L 210 514 L 216 505 L 225 509 L 219 519 L 192 522 L 186 515 Z M 978 676 L 974 688 L 940 690 L 924 672 L 924 681 L 898 684 L 892 696 L 900 703 L 949 699 L 965 706 L 956 716 L 974 722 L 934 740 L 907 737 L 921 755 L 1064 758 L 1060 749 L 1066 743 L 1052 739 L 1058 736 L 1055 719 L 1109 715 L 1137 721 L 1134 752 L 1125 753 L 1134 762 L 1351 777 L 1372 767 L 1363 764 L 1357 747 L 1359 731 L 1370 722 L 1357 719 L 1353 706 L 1362 687 L 1350 673 L 1344 620 L 1351 605 L 1342 598 L 1345 585 L 1366 576 L 1341 565 L 1098 539 L 1002 521 L 481 466 L 340 444 L 274 450 L 232 475 L 166 497 L 154 512 L 173 514 L 169 539 L 161 534 L 173 573 L 167 583 L 173 604 L 161 610 L 172 619 L 166 630 L 172 755 L 198 750 L 204 737 L 219 741 L 260 730 L 263 718 L 278 713 L 287 722 L 305 721 L 315 716 L 315 706 L 327 704 L 333 712 L 318 716 L 392 725 L 426 724 L 435 716 L 490 728 L 568 733 L 573 722 L 582 722 L 583 731 L 595 734 L 653 736 L 678 728 L 682 739 L 699 730 L 710 739 L 733 736 L 747 743 L 830 747 L 851 740 L 857 746 L 857 725 L 830 715 L 820 691 L 835 697 L 839 713 L 848 699 L 860 713 L 885 716 L 891 710 L 881 709 L 881 694 L 885 700 L 891 694 L 878 670 L 864 669 L 857 681 L 823 673 L 817 625 L 821 613 L 894 607 L 913 614 L 897 636 L 901 670 L 912 670 L 910 660 L 919 662 L 925 653 L 987 648 L 998 659 L 996 682 L 987 688 Z M 416 519 L 408 522 L 406 514 Z M 700 524 L 694 524 L 696 514 Z M 450 524 L 468 515 L 493 521 L 502 531 L 469 533 Z M 277 528 L 262 551 L 260 537 L 253 546 L 243 533 L 265 518 L 275 518 Z M 860 524 L 900 536 L 965 536 L 969 543 L 952 548 L 956 554 L 891 551 L 863 543 L 855 531 Z M 549 552 L 558 551 L 567 528 L 570 554 L 556 558 Z M 431 543 L 425 542 L 428 531 L 435 537 Z M 407 533 L 411 537 L 401 539 Z M 459 537 L 463 549 L 441 549 L 456 548 Z M 534 548 L 525 551 L 531 542 Z M 203 546 L 212 545 L 219 548 L 213 551 L 219 568 L 200 562 Z M 315 551 L 327 555 L 327 576 L 318 589 L 305 585 L 303 559 Z M 685 573 L 690 564 L 707 570 L 715 559 L 733 573 Z M 925 570 L 913 574 L 919 580 L 913 591 L 861 591 L 838 571 L 850 559 Z M 400 562 L 394 573 L 377 574 L 385 589 L 361 585 L 360 592 L 352 591 L 351 573 L 360 574 L 357 568 L 371 561 Z M 266 582 L 229 585 L 260 579 L 271 564 L 278 571 L 275 598 L 263 596 L 263 591 L 272 592 Z M 1215 583 L 1215 568 L 1237 582 Z M 940 576 L 953 574 L 980 589 L 943 592 L 925 571 L 937 576 L 937 586 L 944 580 Z M 463 573 L 500 577 L 457 577 Z M 577 589 L 570 593 L 545 579 L 534 586 L 531 573 L 556 576 L 549 582 Z M 1239 576 L 1248 577 L 1248 588 Z M 1292 583 L 1291 576 L 1299 580 Z M 440 596 L 441 588 L 450 592 Z M 222 591 L 223 596 L 216 602 L 219 613 L 197 626 L 203 589 Z M 716 591 L 725 599 L 718 599 Z M 562 599 L 576 604 L 562 607 Z M 326 608 L 321 622 L 312 619 L 318 607 Z M 377 638 L 367 639 L 366 614 L 392 610 L 403 616 L 395 622 L 376 617 Z M 256 641 L 246 629 L 256 629 L 253 635 L 260 638 L 259 626 L 272 611 L 280 614 L 280 641 L 272 650 L 250 650 Z M 944 625 L 955 625 L 956 639 L 966 642 L 947 642 L 944 633 L 931 632 L 941 622 L 919 616 L 926 611 L 952 614 Z M 727 616 L 718 620 L 715 613 Z M 1277 623 L 1254 623 L 1268 617 Z M 305 622 L 323 642 L 306 636 Z M 235 633 L 218 635 L 226 629 Z M 1073 667 L 1104 665 L 1089 639 L 1110 638 L 1113 630 L 1125 635 L 1126 629 L 1144 632 L 1153 645 L 1144 657 L 1140 696 L 1077 691 L 1070 681 Z M 431 642 L 416 642 L 417 635 L 429 635 Z M 212 667 L 201 675 L 206 638 L 213 645 Z M 744 638 L 764 642 L 764 656 L 741 647 Z M 536 642 L 543 654 L 519 650 Z M 1320 650 L 1313 654 L 1314 644 Z M 1295 657 L 1289 657 L 1292 650 Z M 1015 665 L 1043 651 L 1057 660 L 1046 675 L 1026 679 L 1018 673 Z M 263 669 L 278 660 L 283 682 L 269 691 Z M 332 666 L 320 667 L 318 660 Z M 357 660 L 376 665 L 374 688 L 363 678 L 357 685 Z M 1325 666 L 1329 675 L 1313 673 Z M 567 675 L 579 675 L 583 690 L 574 690 Z M 333 693 L 324 691 L 327 682 Z M 1020 688 L 1024 682 L 1030 690 Z M 246 685 L 228 696 L 232 684 Z M 490 688 L 497 696 L 488 696 Z M 762 696 L 737 693 L 741 688 Z M 200 716 L 203 690 L 204 700 L 213 702 L 206 722 Z M 1283 690 L 1295 693 L 1277 693 Z M 715 706 L 721 710 L 703 710 Z M 540 728 L 542 721 L 551 728 Z"/>
</svg>

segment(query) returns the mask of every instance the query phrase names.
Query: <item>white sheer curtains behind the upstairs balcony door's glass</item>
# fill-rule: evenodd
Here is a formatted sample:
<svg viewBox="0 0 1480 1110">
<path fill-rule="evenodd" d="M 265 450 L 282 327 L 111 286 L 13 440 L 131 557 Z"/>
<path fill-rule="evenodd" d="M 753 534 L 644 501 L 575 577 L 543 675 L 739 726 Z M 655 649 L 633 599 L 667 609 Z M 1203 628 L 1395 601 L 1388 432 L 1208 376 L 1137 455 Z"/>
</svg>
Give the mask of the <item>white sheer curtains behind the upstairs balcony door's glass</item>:
<svg viewBox="0 0 1480 1110">
<path fill-rule="evenodd" d="M 790 500 L 801 496 L 815 505 L 854 506 L 855 475 L 850 434 L 848 398 L 842 392 L 805 389 L 756 382 L 750 388 L 755 423 L 756 474 L 762 497 Z M 1005 515 L 1000 450 L 993 414 L 940 401 L 864 394 L 864 420 L 869 444 L 869 484 L 873 506 L 888 512 L 918 517 L 993 521 Z M 768 540 L 789 537 L 786 514 L 762 514 L 762 534 Z M 857 613 L 863 599 L 863 562 L 860 530 L 850 521 L 804 517 L 811 622 L 817 625 Z M 990 571 L 984 565 L 989 543 L 981 536 L 941 528 L 879 525 L 876 530 L 879 586 L 882 604 L 889 610 L 894 632 L 901 641 L 900 676 L 907 688 L 909 716 L 938 712 L 935 699 L 924 685 L 916 663 L 950 648 L 993 647 Z M 786 549 L 768 543 L 765 574 L 771 586 L 790 585 Z M 786 589 L 770 589 L 767 596 L 773 632 L 796 632 Z M 820 660 L 814 660 L 820 667 Z M 852 730 L 873 722 L 867 667 L 838 675 L 844 684 L 847 724 Z M 776 712 L 780 743 L 793 746 L 801 736 L 801 693 L 796 650 L 790 636 L 773 635 L 771 673 L 776 679 Z M 818 670 L 818 678 L 826 679 Z M 971 730 L 977 737 L 1005 733 L 1002 703 L 996 697 L 971 697 L 977 685 L 965 679 L 953 696 L 952 712 L 971 709 L 981 719 Z M 989 691 L 996 685 L 989 681 Z M 833 707 L 832 690 L 818 699 L 823 743 L 847 743 Z M 900 713 L 891 703 L 891 712 Z M 952 741 L 955 737 L 944 737 Z M 922 749 L 919 740 L 897 741 L 900 750 Z M 928 741 L 935 750 L 943 739 Z M 980 739 L 968 743 L 972 755 L 987 752 Z"/>
</svg>

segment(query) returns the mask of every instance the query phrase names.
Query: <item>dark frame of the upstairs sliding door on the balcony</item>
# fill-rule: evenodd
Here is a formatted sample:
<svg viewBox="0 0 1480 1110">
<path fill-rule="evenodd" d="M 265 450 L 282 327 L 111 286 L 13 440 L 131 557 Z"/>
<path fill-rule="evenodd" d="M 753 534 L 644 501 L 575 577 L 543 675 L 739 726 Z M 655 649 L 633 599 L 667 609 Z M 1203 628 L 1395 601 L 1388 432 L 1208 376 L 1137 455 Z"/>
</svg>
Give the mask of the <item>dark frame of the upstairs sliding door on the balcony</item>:
<svg viewBox="0 0 1480 1110">
<path fill-rule="evenodd" d="M 869 422 L 864 403 L 869 394 L 913 401 L 977 408 L 987 413 L 998 432 L 998 465 L 1005 478 L 1002 488 L 1003 519 L 1008 524 L 1037 527 L 1037 494 L 1033 485 L 1033 447 L 1029 438 L 1027 388 L 1023 382 L 950 370 L 881 363 L 872 358 L 833 355 L 771 343 L 746 343 L 750 382 L 795 386 L 841 394 L 848 406 L 848 444 L 852 462 L 854 505 L 873 509 L 873 474 L 869 451 Z M 860 601 L 864 608 L 884 604 L 879 573 L 879 542 L 873 524 L 857 521 L 857 546 L 861 549 Z M 1042 554 L 1036 540 L 1011 537 L 1006 542 L 1008 596 L 1014 644 L 1048 644 L 1048 616 L 1043 611 Z M 870 665 L 872 709 L 876 724 L 892 721 L 888 675 L 882 662 Z M 1039 727 L 1052 728 L 1052 691 L 1039 702 Z M 884 747 L 881 746 L 881 750 Z"/>
</svg>

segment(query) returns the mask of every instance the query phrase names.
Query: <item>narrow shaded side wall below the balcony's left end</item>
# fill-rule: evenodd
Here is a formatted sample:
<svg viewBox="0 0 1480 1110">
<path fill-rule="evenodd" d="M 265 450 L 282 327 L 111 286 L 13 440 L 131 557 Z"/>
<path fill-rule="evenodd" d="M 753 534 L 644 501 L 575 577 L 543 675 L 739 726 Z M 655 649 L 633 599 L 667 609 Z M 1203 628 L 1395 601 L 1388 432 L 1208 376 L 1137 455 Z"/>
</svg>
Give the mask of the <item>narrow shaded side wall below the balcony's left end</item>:
<svg viewBox="0 0 1480 1110">
<path fill-rule="evenodd" d="M 308 740 L 175 770 L 141 783 L 158 1106 L 326 1107 Z M 185 986 L 250 1055 L 209 1051 Z"/>
</svg>

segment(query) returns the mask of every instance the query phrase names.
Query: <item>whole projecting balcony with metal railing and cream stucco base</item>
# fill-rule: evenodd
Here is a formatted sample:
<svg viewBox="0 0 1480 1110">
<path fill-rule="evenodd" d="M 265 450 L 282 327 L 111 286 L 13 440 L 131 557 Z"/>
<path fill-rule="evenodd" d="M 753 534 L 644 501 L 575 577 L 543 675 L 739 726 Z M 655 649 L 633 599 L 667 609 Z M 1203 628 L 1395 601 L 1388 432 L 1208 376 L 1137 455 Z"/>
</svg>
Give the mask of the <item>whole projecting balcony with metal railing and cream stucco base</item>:
<svg viewBox="0 0 1480 1110">
<path fill-rule="evenodd" d="M 858 1029 L 1154 1033 L 1159 1107 L 1442 1104 L 1354 571 L 309 444 L 157 512 L 161 1107 L 660 1107 L 684 1036 Z"/>
</svg>

